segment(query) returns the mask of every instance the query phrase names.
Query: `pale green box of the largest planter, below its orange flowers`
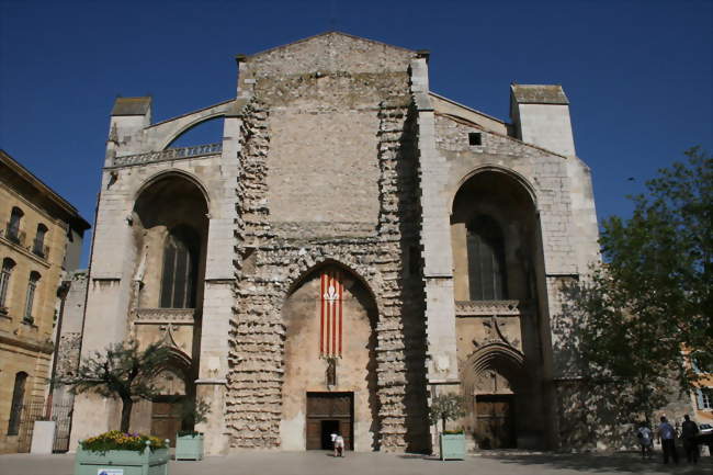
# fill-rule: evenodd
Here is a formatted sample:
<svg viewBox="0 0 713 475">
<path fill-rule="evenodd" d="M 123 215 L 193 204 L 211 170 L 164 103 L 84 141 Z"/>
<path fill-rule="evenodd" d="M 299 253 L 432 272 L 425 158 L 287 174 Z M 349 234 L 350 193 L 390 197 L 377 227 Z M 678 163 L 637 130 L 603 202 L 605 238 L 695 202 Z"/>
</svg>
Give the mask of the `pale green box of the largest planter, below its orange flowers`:
<svg viewBox="0 0 713 475">
<path fill-rule="evenodd" d="M 77 449 L 75 475 L 98 475 L 101 470 L 122 475 L 168 475 L 168 449 L 144 453 L 131 450 L 110 450 L 106 452 Z M 112 472 L 114 471 L 114 472 Z"/>
</svg>

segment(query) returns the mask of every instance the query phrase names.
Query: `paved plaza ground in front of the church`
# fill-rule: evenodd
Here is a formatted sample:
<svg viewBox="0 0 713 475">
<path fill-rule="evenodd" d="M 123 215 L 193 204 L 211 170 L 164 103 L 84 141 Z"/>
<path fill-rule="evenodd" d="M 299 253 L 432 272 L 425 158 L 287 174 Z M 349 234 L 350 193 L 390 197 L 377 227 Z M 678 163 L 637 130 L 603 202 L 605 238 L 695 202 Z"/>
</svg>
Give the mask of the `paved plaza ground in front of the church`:
<svg viewBox="0 0 713 475">
<path fill-rule="evenodd" d="M 660 456 L 660 455 L 659 455 Z M 0 455 L 0 475 L 72 475 L 72 454 Z M 331 453 L 241 452 L 176 462 L 170 475 L 581 475 L 581 474 L 713 474 L 713 460 L 699 465 L 664 465 L 659 457 L 641 461 L 635 454 L 489 453 L 465 461 L 441 462 L 416 454 L 353 453 L 335 459 Z"/>
</svg>

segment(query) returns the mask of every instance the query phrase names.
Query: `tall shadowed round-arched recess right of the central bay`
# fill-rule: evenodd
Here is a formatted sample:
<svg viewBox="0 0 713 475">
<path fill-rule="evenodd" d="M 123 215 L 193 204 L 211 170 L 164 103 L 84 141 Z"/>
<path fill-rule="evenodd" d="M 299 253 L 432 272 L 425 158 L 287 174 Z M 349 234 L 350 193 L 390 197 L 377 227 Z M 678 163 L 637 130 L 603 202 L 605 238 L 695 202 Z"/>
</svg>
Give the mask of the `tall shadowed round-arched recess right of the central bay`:
<svg viewBox="0 0 713 475">
<path fill-rule="evenodd" d="M 544 264 L 532 186 L 511 170 L 475 170 L 453 199 L 451 246 L 472 433 L 483 446 L 541 445 Z M 498 420 L 507 423 L 496 427 Z"/>
</svg>

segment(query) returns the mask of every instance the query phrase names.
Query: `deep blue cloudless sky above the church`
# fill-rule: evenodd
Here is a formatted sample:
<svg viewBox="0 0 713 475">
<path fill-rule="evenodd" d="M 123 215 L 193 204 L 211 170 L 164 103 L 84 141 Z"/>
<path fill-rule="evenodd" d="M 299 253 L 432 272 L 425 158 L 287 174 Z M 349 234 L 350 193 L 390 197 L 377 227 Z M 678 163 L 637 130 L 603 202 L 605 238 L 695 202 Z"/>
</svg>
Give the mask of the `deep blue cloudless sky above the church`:
<svg viewBox="0 0 713 475">
<path fill-rule="evenodd" d="M 502 120 L 511 81 L 563 84 L 598 214 L 626 216 L 657 169 L 713 150 L 712 5 L 0 0 L 0 148 L 91 222 L 117 94 L 151 94 L 168 118 L 234 97 L 236 54 L 339 30 L 429 49 L 434 92 Z"/>
</svg>

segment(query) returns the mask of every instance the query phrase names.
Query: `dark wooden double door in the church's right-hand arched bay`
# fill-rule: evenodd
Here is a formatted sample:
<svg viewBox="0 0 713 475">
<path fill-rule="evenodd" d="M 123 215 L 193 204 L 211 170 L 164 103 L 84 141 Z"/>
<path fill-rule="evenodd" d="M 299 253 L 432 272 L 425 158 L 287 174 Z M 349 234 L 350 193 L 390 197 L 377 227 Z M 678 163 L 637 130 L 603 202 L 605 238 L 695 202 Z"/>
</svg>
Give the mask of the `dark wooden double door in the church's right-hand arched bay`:
<svg viewBox="0 0 713 475">
<path fill-rule="evenodd" d="M 480 449 L 516 446 L 514 396 L 476 396 L 476 433 Z"/>
</svg>

